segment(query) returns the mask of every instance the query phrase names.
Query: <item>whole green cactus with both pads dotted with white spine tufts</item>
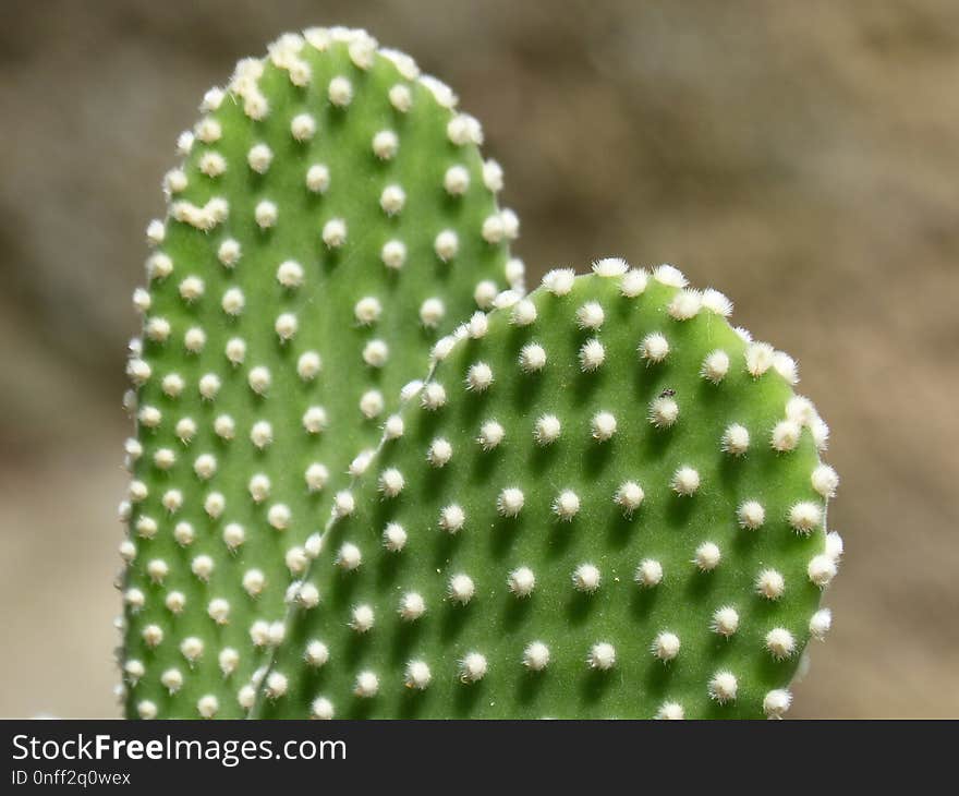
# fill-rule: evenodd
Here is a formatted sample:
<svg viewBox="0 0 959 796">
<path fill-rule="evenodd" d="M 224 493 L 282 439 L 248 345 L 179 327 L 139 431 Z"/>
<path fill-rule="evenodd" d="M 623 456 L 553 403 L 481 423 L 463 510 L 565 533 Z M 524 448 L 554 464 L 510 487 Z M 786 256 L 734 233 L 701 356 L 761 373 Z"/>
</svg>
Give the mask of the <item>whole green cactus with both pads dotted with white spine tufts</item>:
<svg viewBox="0 0 959 796">
<path fill-rule="evenodd" d="M 671 266 L 523 298 L 454 106 L 315 28 L 181 136 L 128 365 L 126 715 L 789 708 L 841 555 L 794 362 Z"/>
</svg>

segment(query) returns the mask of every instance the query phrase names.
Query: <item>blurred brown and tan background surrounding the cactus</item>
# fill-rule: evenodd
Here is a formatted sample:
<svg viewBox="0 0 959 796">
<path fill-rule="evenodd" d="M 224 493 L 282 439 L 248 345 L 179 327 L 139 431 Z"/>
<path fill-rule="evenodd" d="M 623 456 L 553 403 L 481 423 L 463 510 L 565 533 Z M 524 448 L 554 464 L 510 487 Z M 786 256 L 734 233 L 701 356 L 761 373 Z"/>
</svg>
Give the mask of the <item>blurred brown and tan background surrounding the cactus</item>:
<svg viewBox="0 0 959 796">
<path fill-rule="evenodd" d="M 959 3 L 0 0 L 0 715 L 112 716 L 130 294 L 206 88 L 371 31 L 484 123 L 531 282 L 670 262 L 801 364 L 847 560 L 796 716 L 959 716 Z"/>
</svg>

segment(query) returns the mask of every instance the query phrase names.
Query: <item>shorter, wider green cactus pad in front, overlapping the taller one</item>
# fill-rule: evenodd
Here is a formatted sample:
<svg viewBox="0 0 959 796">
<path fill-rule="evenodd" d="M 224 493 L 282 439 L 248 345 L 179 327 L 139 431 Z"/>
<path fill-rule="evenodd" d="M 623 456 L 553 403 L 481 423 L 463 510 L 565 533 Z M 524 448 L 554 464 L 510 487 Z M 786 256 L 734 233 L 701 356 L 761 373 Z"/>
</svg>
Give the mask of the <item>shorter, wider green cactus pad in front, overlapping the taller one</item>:
<svg viewBox="0 0 959 796">
<path fill-rule="evenodd" d="M 626 268 L 553 272 L 439 343 L 324 539 L 255 715 L 788 708 L 840 553 L 826 426 L 725 297 Z"/>
</svg>

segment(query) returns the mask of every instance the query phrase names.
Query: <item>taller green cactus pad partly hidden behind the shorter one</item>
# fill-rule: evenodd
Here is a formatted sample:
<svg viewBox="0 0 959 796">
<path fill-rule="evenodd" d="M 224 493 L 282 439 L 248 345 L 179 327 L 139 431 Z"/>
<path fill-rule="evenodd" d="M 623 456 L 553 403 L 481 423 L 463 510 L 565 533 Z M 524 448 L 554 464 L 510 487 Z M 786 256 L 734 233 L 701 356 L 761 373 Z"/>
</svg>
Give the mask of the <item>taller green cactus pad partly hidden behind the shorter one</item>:
<svg viewBox="0 0 959 796">
<path fill-rule="evenodd" d="M 317 28 L 241 61 L 181 136 L 129 364 L 128 715 L 244 714 L 353 457 L 436 339 L 519 286 L 499 167 L 456 105 Z"/>
</svg>

